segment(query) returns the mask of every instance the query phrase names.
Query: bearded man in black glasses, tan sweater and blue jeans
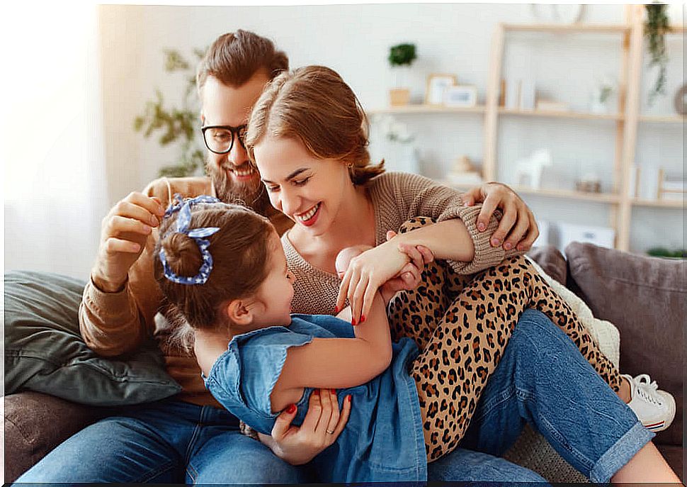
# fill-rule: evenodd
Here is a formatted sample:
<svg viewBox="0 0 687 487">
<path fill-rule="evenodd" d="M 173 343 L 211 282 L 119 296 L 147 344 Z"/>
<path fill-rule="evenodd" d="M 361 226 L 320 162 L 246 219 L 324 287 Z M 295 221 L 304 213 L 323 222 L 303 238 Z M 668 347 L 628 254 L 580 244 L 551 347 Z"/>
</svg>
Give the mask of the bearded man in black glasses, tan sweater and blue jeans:
<svg viewBox="0 0 687 487">
<path fill-rule="evenodd" d="M 206 145 L 214 147 L 207 142 L 211 137 L 232 138 L 229 150 L 220 154 L 208 148 L 209 178 L 152 181 L 142 193 L 131 193 L 115 204 L 103 219 L 101 245 L 79 309 L 81 334 L 104 357 L 130 352 L 154 338 L 167 371 L 183 391 L 166 401 L 120 408 L 118 415 L 86 427 L 59 445 L 19 482 L 312 481 L 307 469 L 290 464 L 305 464 L 334 442 L 350 406 L 339 413 L 335 404 L 312 395 L 300 428 L 290 426 L 295 412 L 283 413 L 273 437 L 261 437 L 276 456 L 261 442 L 241 434 L 237 418 L 205 391 L 193 354 L 170 347 L 164 320 L 156 323 L 154 319 L 163 303 L 153 276 L 153 251 L 159 221 L 174 194 L 210 194 L 222 201 L 240 201 L 268 216 L 280 234 L 293 224 L 271 207 L 242 142 L 251 106 L 265 84 L 284 69 L 288 69 L 288 58 L 266 38 L 244 30 L 217 38 L 198 67 L 201 121 Z M 470 191 L 466 199 L 470 203 L 486 199 L 478 222 L 487 223 L 497 206 L 506 209 L 494 235 L 499 240 L 496 245 L 515 246 L 526 237 L 519 245 L 528 248 L 538 236 L 533 216 L 506 186 L 485 184 Z M 517 221 L 508 217 L 518 214 L 526 216 Z M 339 426 L 335 435 L 324 435 L 325 428 L 318 425 L 329 424 L 332 416 L 339 418 Z M 492 460 L 492 469 L 497 460 Z M 509 464 L 504 480 L 540 480 L 518 469 Z"/>
</svg>

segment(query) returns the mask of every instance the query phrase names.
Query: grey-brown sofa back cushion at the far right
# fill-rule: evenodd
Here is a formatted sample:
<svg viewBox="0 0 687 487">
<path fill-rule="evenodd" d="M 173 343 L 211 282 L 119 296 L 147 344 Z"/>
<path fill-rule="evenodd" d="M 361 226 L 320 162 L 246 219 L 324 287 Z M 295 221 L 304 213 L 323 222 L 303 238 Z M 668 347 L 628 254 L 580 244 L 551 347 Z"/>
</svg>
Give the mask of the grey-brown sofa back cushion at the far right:
<svg viewBox="0 0 687 487">
<path fill-rule="evenodd" d="M 687 262 L 579 242 L 565 254 L 576 292 L 620 330 L 620 370 L 649 374 L 675 396 L 675 420 L 655 442 L 681 445 Z"/>
</svg>

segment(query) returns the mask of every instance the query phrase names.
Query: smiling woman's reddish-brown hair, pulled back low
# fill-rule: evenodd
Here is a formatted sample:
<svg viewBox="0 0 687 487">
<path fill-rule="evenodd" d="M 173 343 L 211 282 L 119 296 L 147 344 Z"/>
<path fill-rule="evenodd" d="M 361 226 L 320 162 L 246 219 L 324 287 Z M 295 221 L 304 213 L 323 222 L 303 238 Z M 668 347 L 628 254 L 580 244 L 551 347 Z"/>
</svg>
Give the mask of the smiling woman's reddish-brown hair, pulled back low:
<svg viewBox="0 0 687 487">
<path fill-rule="evenodd" d="M 306 66 L 273 79 L 255 103 L 246 134 L 246 149 L 265 137 L 300 140 L 318 159 L 349 165 L 353 184 L 384 172 L 384 161 L 370 164 L 368 118 L 358 97 L 333 69 Z"/>
</svg>

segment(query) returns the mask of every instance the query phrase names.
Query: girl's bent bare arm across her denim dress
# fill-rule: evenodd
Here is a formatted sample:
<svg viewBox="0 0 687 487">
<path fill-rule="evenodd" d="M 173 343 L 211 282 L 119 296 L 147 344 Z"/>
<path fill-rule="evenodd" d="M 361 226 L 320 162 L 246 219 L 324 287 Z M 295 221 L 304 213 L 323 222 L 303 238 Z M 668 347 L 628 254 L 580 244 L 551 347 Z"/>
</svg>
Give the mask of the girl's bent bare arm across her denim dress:
<svg viewBox="0 0 687 487">
<path fill-rule="evenodd" d="M 355 387 L 381 374 L 391 363 L 392 349 L 379 293 L 369 315 L 353 332 L 355 338 L 314 338 L 307 345 L 289 348 L 271 394 L 272 410 L 297 402 L 305 387 Z"/>
</svg>

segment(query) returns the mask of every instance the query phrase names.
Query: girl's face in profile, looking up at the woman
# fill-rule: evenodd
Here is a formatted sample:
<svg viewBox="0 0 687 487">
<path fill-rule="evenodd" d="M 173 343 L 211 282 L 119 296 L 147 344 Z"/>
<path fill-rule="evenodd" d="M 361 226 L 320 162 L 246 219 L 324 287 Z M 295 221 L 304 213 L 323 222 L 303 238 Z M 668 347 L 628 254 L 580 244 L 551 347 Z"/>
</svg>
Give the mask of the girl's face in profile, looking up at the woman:
<svg viewBox="0 0 687 487">
<path fill-rule="evenodd" d="M 255 296 L 255 328 L 288 325 L 291 323 L 291 300 L 293 300 L 293 283 L 295 277 L 286 265 L 284 249 L 276 232 L 270 236 L 272 253 L 269 262 L 269 274 L 260 285 Z"/>
</svg>

